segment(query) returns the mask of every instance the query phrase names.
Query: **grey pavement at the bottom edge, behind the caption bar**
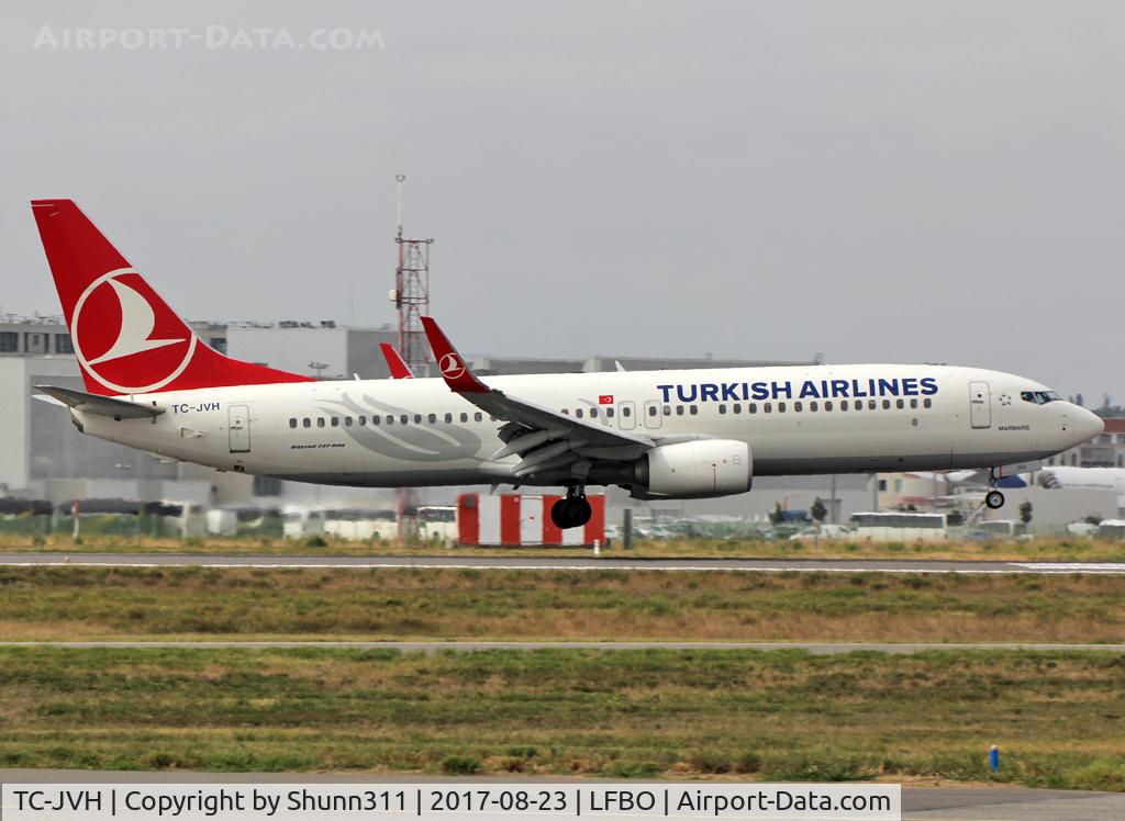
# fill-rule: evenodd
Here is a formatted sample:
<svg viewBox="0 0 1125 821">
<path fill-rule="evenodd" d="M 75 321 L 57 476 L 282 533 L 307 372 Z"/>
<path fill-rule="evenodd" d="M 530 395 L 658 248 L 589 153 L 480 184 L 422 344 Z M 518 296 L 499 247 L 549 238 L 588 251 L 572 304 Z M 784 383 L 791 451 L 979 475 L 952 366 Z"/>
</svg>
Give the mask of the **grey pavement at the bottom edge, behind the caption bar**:
<svg viewBox="0 0 1125 821">
<path fill-rule="evenodd" d="M 69 769 L 0 769 L 4 784 L 207 784 L 207 783 L 369 783 L 416 784 L 434 782 L 514 783 L 511 777 L 450 778 L 440 775 L 368 775 L 352 773 L 117 773 Z M 536 781 L 575 783 L 603 779 L 550 778 Z M 631 786 L 641 781 L 629 782 Z M 1086 793 L 1069 790 L 1026 790 L 1023 787 L 903 787 L 904 821 L 1102 821 L 1125 818 L 1125 794 Z"/>
</svg>

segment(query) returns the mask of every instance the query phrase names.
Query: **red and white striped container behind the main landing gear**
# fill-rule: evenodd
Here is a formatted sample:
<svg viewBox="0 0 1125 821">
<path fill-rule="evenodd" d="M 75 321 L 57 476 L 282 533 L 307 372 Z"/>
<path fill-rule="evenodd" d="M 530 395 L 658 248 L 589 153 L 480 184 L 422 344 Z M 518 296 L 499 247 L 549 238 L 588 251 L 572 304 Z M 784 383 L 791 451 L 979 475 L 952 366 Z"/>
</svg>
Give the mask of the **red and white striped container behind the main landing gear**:
<svg viewBox="0 0 1125 821">
<path fill-rule="evenodd" d="M 593 515 L 584 527 L 559 530 L 551 505 L 561 496 L 462 494 L 457 499 L 459 544 L 591 547 L 605 544 L 605 496 L 587 496 Z"/>
</svg>

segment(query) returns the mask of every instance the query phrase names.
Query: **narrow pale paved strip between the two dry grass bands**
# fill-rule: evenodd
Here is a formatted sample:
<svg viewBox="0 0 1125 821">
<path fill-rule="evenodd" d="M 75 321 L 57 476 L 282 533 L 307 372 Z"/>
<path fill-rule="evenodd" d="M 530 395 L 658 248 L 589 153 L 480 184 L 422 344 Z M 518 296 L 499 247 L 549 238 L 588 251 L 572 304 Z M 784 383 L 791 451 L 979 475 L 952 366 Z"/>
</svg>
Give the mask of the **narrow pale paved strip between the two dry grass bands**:
<svg viewBox="0 0 1125 821">
<path fill-rule="evenodd" d="M 888 643 L 888 642 L 809 642 L 809 641 L 0 641 L 0 648 L 51 647 L 62 649 L 108 648 L 191 649 L 191 650 L 285 650 L 327 648 L 344 650 L 398 650 L 400 652 L 442 652 L 457 650 L 802 650 L 813 656 L 849 652 L 912 655 L 938 650 L 1038 650 L 1125 652 L 1125 644 L 1060 643 Z"/>
</svg>

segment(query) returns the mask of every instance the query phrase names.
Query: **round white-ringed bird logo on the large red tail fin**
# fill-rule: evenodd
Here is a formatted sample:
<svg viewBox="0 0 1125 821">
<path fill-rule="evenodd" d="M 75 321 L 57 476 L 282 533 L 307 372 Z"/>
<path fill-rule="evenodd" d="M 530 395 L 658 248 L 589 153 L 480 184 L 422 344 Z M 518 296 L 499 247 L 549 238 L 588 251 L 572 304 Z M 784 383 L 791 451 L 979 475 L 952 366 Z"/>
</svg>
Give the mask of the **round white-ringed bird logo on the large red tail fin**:
<svg viewBox="0 0 1125 821">
<path fill-rule="evenodd" d="M 98 277 L 82 291 L 74 305 L 71 335 L 79 362 L 106 388 L 122 394 L 146 394 L 183 372 L 195 353 L 197 337 L 160 304 L 159 297 L 154 294 L 150 297 L 123 280 L 127 274 L 134 274 L 136 283 L 143 286 L 144 280 L 134 269 L 119 268 Z M 168 315 L 160 322 L 151 298 Z M 108 308 L 111 315 L 114 301 L 120 309 L 116 330 L 111 330 L 111 322 L 106 322 L 108 316 L 102 310 Z M 83 324 L 82 312 L 88 307 L 91 309 Z"/>
</svg>

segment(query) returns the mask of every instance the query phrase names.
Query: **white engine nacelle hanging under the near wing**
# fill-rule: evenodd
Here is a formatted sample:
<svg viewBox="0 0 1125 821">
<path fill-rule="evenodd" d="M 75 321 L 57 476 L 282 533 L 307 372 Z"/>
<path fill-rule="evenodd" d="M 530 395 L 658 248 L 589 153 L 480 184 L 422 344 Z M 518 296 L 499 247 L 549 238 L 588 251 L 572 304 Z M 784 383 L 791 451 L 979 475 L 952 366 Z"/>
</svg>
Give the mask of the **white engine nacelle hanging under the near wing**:
<svg viewBox="0 0 1125 821">
<path fill-rule="evenodd" d="M 636 467 L 633 498 L 708 498 L 746 493 L 754 481 L 750 446 L 732 439 L 662 444 Z"/>
</svg>

